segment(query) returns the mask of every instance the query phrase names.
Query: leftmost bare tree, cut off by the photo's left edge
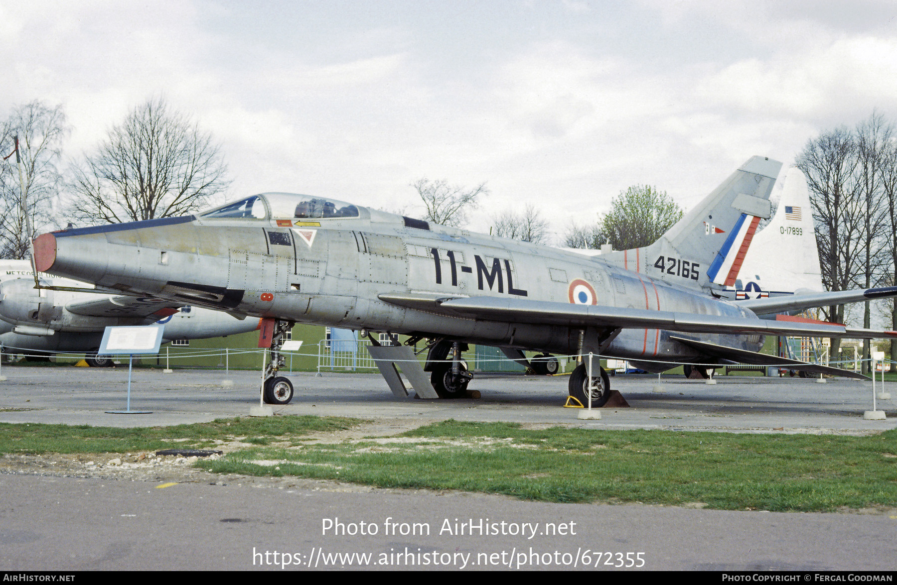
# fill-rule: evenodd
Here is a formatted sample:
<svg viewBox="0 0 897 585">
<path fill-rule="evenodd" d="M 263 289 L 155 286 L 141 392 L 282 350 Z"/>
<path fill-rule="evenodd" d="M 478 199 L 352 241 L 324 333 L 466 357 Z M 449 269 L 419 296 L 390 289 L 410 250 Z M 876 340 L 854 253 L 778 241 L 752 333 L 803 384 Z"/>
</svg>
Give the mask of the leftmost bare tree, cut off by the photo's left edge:
<svg viewBox="0 0 897 585">
<path fill-rule="evenodd" d="M 36 231 L 52 223 L 51 205 L 62 185 L 57 163 L 68 130 L 61 106 L 49 108 L 37 100 L 13 108 L 9 118 L 0 123 L 0 150 L 9 155 L 0 161 L 0 257 L 28 258 L 34 233 L 29 234 L 26 225 Z M 19 164 L 13 154 L 15 137 L 19 139 L 17 154 L 28 222 L 22 215 Z"/>
</svg>

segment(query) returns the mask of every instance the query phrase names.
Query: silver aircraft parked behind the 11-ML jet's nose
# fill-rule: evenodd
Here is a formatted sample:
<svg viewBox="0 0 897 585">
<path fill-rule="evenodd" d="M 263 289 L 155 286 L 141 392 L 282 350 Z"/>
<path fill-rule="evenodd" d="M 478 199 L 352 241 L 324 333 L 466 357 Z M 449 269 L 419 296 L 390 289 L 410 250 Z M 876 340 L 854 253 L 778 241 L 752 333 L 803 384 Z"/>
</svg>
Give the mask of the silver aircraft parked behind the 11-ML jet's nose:
<svg viewBox="0 0 897 585">
<path fill-rule="evenodd" d="M 40 274 L 57 288 L 83 283 Z M 163 323 L 164 340 L 193 340 L 236 335 L 258 329 L 257 319 L 242 318 L 161 298 L 100 295 L 36 289 L 27 260 L 0 261 L 0 343 L 6 351 L 84 352 L 90 366 L 111 366 L 97 356 L 109 325 Z"/>
</svg>

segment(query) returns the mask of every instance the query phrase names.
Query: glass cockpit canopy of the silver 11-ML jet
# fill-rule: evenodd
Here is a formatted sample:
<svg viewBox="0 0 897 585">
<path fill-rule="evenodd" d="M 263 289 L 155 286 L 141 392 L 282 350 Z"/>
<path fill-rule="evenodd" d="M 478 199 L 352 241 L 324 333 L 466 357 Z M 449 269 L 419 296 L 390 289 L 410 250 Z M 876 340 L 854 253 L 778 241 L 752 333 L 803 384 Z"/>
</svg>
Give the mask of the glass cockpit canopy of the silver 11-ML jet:
<svg viewBox="0 0 897 585">
<path fill-rule="evenodd" d="M 357 218 L 358 208 L 351 203 L 288 193 L 253 195 L 238 202 L 199 214 L 210 219 L 331 219 Z"/>
</svg>

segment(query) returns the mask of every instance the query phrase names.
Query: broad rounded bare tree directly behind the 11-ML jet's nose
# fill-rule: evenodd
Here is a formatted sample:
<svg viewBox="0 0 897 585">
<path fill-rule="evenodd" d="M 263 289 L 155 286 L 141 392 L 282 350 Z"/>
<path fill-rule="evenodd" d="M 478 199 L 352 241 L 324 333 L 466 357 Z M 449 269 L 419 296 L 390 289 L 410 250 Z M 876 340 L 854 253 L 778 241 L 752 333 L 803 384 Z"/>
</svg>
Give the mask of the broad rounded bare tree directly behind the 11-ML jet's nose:
<svg viewBox="0 0 897 585">
<path fill-rule="evenodd" d="M 72 213 L 109 223 L 186 215 L 230 185 L 226 173 L 210 133 L 151 99 L 75 168 Z"/>
</svg>

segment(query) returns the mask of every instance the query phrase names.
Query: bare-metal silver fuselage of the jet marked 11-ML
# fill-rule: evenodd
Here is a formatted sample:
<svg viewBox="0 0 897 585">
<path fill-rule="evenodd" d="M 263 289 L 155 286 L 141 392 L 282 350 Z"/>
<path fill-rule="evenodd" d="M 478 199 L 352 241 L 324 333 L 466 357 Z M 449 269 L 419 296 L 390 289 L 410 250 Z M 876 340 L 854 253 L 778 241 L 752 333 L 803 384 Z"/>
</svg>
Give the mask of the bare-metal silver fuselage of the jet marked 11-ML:
<svg viewBox="0 0 897 585">
<path fill-rule="evenodd" d="M 39 270 L 52 274 L 232 314 L 640 362 L 701 356 L 662 330 L 464 318 L 380 296 L 505 297 L 757 318 L 692 283 L 696 266 L 659 280 L 644 274 L 647 259 L 627 271 L 600 257 L 357 210 L 353 218 L 278 218 L 268 211 L 265 219 L 187 216 L 69 229 L 39 237 L 36 257 Z M 762 345 L 759 335 L 677 335 L 751 351 Z"/>
</svg>

